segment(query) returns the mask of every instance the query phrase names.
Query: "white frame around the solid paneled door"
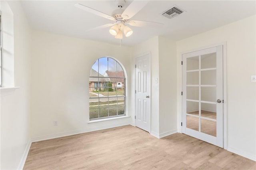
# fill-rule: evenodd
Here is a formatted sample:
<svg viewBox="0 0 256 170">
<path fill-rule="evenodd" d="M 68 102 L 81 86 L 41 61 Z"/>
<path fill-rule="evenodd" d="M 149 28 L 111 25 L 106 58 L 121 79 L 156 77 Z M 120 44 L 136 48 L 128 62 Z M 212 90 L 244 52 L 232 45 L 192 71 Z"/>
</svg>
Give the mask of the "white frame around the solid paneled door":
<svg viewBox="0 0 256 170">
<path fill-rule="evenodd" d="M 134 120 L 134 126 L 136 127 L 136 119 L 135 119 L 135 116 L 136 116 L 136 93 L 135 93 L 135 90 L 136 90 L 136 58 L 138 57 L 142 57 L 144 55 L 149 55 L 149 65 L 150 65 L 150 114 L 149 114 L 149 133 L 151 134 L 151 110 L 152 110 L 152 105 L 151 105 L 151 52 L 145 52 L 145 53 L 142 53 L 140 55 L 136 55 L 136 57 L 134 58 L 134 117 L 133 117 L 133 120 Z"/>
</svg>

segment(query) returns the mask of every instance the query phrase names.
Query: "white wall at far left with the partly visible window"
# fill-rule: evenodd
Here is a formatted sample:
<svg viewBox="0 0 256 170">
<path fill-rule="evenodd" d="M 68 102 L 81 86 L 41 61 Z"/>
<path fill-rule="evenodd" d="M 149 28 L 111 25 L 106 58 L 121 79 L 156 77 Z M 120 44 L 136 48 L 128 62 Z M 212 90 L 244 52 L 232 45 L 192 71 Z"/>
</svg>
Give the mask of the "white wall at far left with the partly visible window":
<svg viewBox="0 0 256 170">
<path fill-rule="evenodd" d="M 4 18 L 6 8 L 13 13 L 13 21 Z M 30 142 L 30 27 L 22 11 L 20 2 L 1 1 L 2 20 L 13 22 L 14 34 L 3 36 L 3 44 L 7 37 L 13 36 L 14 60 L 8 68 L 14 70 L 14 82 L 6 83 L 4 87 L 20 87 L 19 89 L 1 89 L 1 169 L 20 169 L 26 160 Z M 3 23 L 3 24 L 4 24 Z M 5 26 L 3 25 L 3 29 Z M 7 32 L 4 32 L 6 34 Z M 3 53 L 5 55 L 7 51 Z M 10 53 L 9 53 L 10 54 Z M 8 56 L 10 56 L 8 54 Z M 6 56 L 3 56 L 6 57 Z M 5 64 L 5 63 L 3 63 Z M 6 65 L 5 65 L 6 66 Z M 13 69 L 14 68 L 14 69 Z M 13 75 L 10 75 L 13 77 Z M 7 77 L 6 77 L 7 78 Z M 13 79 L 13 78 L 11 78 Z M 6 81 L 4 79 L 3 81 Z"/>
</svg>

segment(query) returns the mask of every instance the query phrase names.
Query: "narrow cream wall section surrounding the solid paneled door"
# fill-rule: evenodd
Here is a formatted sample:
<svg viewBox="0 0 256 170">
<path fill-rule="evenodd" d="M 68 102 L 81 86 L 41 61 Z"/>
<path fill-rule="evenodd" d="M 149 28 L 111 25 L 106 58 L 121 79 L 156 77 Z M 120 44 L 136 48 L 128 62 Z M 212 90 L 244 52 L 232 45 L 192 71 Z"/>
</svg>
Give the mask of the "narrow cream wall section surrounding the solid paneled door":
<svg viewBox="0 0 256 170">
<path fill-rule="evenodd" d="M 158 37 L 151 38 L 143 43 L 134 45 L 132 47 L 132 58 L 130 70 L 131 72 L 131 81 L 130 86 L 132 87 L 131 91 L 131 103 L 132 105 L 132 124 L 135 125 L 134 115 L 135 115 L 135 58 L 145 54 L 150 53 L 151 55 L 151 128 L 150 133 L 156 137 L 159 137 L 159 83 L 155 83 L 155 79 L 159 79 L 159 61 L 158 61 Z"/>
</svg>

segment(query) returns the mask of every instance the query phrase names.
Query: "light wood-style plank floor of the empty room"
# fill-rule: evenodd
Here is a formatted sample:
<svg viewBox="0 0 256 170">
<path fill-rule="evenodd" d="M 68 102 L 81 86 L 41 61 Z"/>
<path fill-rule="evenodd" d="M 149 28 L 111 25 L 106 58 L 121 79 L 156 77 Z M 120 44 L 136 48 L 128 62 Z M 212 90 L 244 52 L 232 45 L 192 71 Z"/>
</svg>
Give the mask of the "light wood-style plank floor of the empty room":
<svg viewBox="0 0 256 170">
<path fill-rule="evenodd" d="M 255 170 L 256 162 L 185 134 L 130 125 L 33 142 L 24 170 Z"/>
</svg>

